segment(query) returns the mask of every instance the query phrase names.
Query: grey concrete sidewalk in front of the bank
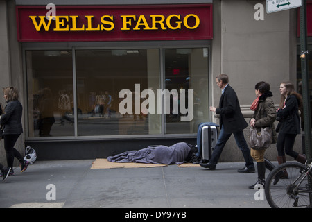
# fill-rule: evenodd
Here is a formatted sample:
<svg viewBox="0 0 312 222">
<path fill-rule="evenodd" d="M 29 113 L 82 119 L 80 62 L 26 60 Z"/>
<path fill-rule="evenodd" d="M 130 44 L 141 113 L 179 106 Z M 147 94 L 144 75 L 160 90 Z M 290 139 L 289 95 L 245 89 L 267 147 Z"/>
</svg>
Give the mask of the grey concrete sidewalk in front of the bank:
<svg viewBox="0 0 312 222">
<path fill-rule="evenodd" d="M 255 200 L 256 190 L 248 189 L 257 173 L 237 172 L 243 162 L 221 162 L 215 171 L 209 171 L 177 165 L 91 169 L 93 161 L 37 161 L 24 173 L 15 167 L 15 176 L 0 180 L 0 207 L 270 207 L 265 197 Z"/>
</svg>

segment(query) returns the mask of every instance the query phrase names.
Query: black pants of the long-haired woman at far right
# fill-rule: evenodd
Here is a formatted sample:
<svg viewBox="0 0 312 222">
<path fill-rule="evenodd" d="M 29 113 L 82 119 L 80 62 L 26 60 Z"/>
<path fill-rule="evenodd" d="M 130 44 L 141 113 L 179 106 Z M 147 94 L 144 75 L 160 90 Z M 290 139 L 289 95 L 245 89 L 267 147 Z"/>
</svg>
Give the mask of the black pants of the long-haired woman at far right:
<svg viewBox="0 0 312 222">
<path fill-rule="evenodd" d="M 277 138 L 277 153 L 279 156 L 290 155 L 293 158 L 298 157 L 298 153 L 293 151 L 293 144 L 295 144 L 297 134 L 279 133 Z"/>
</svg>

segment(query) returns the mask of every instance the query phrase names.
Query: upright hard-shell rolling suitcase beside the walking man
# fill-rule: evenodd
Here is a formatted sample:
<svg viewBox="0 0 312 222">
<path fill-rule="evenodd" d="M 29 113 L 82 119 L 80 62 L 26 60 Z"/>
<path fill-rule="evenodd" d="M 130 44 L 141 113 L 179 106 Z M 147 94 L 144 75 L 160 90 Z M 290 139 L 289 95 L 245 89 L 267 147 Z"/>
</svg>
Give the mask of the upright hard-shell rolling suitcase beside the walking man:
<svg viewBox="0 0 312 222">
<path fill-rule="evenodd" d="M 216 126 L 203 126 L 202 127 L 202 160 L 209 160 L 211 153 L 216 146 L 218 139 L 218 129 Z"/>
</svg>

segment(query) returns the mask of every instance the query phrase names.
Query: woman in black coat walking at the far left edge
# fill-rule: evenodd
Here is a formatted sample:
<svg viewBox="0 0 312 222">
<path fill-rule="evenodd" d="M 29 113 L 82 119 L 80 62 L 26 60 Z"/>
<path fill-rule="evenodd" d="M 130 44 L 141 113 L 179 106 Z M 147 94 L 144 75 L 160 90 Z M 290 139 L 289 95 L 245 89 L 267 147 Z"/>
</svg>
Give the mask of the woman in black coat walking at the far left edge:
<svg viewBox="0 0 312 222">
<path fill-rule="evenodd" d="M 23 133 L 23 128 L 21 125 L 21 114 L 23 108 L 19 102 L 18 90 L 15 87 L 3 88 L 3 97 L 6 100 L 6 108 L 4 108 L 4 113 L 1 115 L 0 125 L 3 127 L 3 139 L 4 139 L 4 149 L 6 150 L 6 160 L 8 167 L 11 168 L 10 175 L 13 172 L 13 162 L 14 157 L 21 163 L 21 172 L 24 172 L 28 167 L 28 161 L 24 160 L 24 157 L 14 148 L 15 143 L 21 133 Z"/>
</svg>

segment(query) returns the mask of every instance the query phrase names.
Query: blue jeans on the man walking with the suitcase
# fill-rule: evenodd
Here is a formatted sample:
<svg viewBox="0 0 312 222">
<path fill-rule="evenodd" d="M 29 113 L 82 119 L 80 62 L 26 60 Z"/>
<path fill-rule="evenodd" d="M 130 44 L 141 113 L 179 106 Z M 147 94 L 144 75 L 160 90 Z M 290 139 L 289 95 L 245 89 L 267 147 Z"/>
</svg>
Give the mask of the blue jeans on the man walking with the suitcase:
<svg viewBox="0 0 312 222">
<path fill-rule="evenodd" d="M 224 128 L 222 127 L 220 130 L 220 135 L 218 137 L 218 141 L 216 143 L 216 146 L 214 147 L 214 151 L 212 152 L 211 158 L 209 160 L 209 162 L 211 164 L 216 165 L 218 163 L 218 160 L 220 158 L 220 155 L 223 151 L 223 148 L 225 146 L 225 144 L 227 143 L 227 140 L 229 139 L 229 137 L 231 137 L 232 133 L 225 133 L 224 132 Z M 252 157 L 250 155 L 250 149 L 246 143 L 244 134 L 243 134 L 243 130 L 233 133 L 234 137 L 235 137 L 235 141 L 237 146 L 239 146 L 239 148 L 241 149 L 241 152 L 243 153 L 243 157 L 245 160 L 245 167 L 247 168 L 253 168 L 254 167 L 254 162 L 252 160 Z"/>
</svg>

